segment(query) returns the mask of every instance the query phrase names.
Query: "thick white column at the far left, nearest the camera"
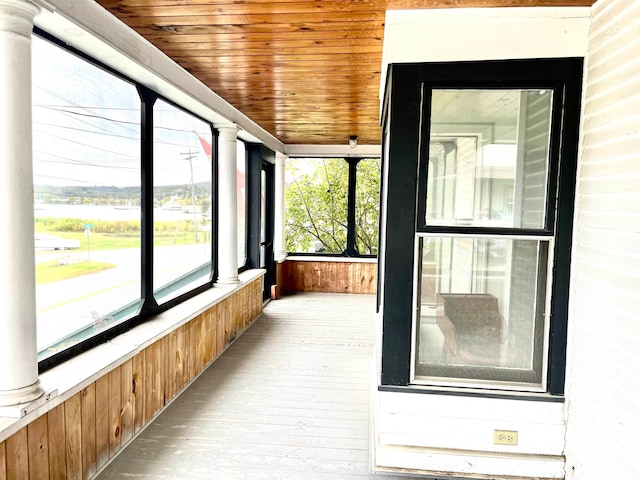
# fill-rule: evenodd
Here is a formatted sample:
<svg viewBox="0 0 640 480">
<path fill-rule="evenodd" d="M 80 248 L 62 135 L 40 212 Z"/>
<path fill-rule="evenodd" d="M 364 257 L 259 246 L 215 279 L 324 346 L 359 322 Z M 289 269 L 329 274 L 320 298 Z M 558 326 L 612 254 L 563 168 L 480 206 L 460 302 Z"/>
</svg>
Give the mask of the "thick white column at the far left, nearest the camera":
<svg viewBox="0 0 640 480">
<path fill-rule="evenodd" d="M 31 145 L 31 30 L 39 8 L 0 0 L 0 405 L 42 395 L 38 380 Z"/>
</svg>

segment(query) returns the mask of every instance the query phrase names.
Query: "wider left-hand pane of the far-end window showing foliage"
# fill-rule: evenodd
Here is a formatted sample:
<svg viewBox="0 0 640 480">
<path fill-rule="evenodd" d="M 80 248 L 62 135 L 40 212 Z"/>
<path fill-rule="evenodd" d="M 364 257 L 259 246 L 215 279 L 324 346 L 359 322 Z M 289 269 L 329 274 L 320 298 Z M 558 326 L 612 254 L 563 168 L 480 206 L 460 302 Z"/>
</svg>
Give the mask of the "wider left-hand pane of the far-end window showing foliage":
<svg viewBox="0 0 640 480">
<path fill-rule="evenodd" d="M 347 248 L 347 162 L 291 158 L 285 183 L 287 251 L 342 253 Z"/>
</svg>

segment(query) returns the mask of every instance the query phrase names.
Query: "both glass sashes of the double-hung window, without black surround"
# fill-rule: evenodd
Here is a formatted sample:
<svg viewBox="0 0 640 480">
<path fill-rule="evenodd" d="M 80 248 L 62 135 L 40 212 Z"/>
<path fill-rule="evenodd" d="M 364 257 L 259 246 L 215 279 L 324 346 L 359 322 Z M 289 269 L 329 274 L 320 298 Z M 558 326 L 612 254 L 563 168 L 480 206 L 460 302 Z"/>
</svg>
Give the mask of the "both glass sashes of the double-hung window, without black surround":
<svg viewBox="0 0 640 480">
<path fill-rule="evenodd" d="M 414 379 L 540 387 L 553 91 L 427 93 Z"/>
</svg>

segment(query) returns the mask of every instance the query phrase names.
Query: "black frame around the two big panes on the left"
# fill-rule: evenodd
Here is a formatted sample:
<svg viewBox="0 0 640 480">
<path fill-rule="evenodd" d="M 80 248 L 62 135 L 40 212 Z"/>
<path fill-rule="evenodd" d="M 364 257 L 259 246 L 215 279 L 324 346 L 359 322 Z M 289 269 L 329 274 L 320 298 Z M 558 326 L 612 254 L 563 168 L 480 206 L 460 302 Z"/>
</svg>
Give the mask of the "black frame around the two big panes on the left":
<svg viewBox="0 0 640 480">
<path fill-rule="evenodd" d="M 63 350 L 48 355 L 38 361 L 38 372 L 43 373 L 51 368 L 58 366 L 65 361 L 80 355 L 100 344 L 106 343 L 109 340 L 125 333 L 132 328 L 152 319 L 156 315 L 167 311 L 174 306 L 190 299 L 210 288 L 213 288 L 215 280 L 218 277 L 218 132 L 213 127 L 211 121 L 202 118 L 200 115 L 190 111 L 172 100 L 169 100 L 152 89 L 142 85 L 123 73 L 105 65 L 104 63 L 96 60 L 95 58 L 87 55 L 86 53 L 71 47 L 63 41 L 57 39 L 53 35 L 47 33 L 44 30 L 35 27 L 33 34 L 45 41 L 52 43 L 53 45 L 62 48 L 63 50 L 71 53 L 83 61 L 102 69 L 107 73 L 119 78 L 132 86 L 134 86 L 140 97 L 141 106 L 141 118 L 140 118 L 140 163 L 141 163 L 141 296 L 140 306 L 137 312 L 128 319 L 115 324 L 108 329 L 98 331 L 84 340 L 79 341 Z M 37 68 L 37 67 L 36 67 Z M 209 125 L 212 135 L 212 178 L 211 178 L 211 212 L 212 212 L 212 233 L 211 233 L 211 265 L 210 275 L 208 281 L 201 285 L 194 287 L 193 289 L 180 294 L 167 302 L 160 305 L 156 302 L 153 292 L 153 105 L 158 100 L 163 101 L 175 106 L 176 108 L 184 111 L 185 113 L 198 118 L 202 122 Z M 123 305 L 122 308 L 126 306 Z"/>
</svg>

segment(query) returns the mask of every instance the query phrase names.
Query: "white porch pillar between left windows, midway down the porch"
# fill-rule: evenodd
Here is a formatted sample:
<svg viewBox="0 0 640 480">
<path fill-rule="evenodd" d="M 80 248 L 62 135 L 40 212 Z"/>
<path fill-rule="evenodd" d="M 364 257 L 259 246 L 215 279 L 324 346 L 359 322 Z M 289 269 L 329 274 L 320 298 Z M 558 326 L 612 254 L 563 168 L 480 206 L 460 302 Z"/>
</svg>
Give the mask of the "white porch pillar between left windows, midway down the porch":
<svg viewBox="0 0 640 480">
<path fill-rule="evenodd" d="M 218 137 L 218 282 L 238 283 L 238 126 L 216 125 Z"/>
</svg>

